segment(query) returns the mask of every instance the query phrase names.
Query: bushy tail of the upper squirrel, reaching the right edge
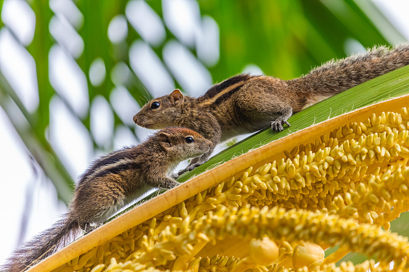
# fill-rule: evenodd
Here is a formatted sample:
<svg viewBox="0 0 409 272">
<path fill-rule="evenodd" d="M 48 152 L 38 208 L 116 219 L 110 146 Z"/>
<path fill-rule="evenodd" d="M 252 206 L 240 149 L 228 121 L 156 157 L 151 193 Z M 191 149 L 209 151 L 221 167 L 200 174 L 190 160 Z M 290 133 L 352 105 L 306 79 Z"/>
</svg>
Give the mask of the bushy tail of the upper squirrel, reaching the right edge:
<svg viewBox="0 0 409 272">
<path fill-rule="evenodd" d="M 392 49 L 378 46 L 366 53 L 328 61 L 289 84 L 299 86 L 306 95 L 334 95 L 405 65 L 409 65 L 408 43 Z"/>
</svg>

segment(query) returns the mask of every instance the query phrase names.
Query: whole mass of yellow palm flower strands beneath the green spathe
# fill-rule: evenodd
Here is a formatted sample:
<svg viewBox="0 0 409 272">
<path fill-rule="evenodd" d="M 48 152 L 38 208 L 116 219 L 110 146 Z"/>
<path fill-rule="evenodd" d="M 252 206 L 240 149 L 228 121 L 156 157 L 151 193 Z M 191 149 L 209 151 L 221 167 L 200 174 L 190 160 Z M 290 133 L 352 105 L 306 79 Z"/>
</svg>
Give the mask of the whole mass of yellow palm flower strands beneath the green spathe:
<svg viewBox="0 0 409 272">
<path fill-rule="evenodd" d="M 409 269 L 407 240 L 379 228 L 388 230 L 409 209 L 406 108 L 372 114 L 289 150 L 54 271 L 382 271 L 391 261 Z M 247 244 L 240 258 L 218 252 L 236 239 Z M 336 243 L 338 255 L 376 256 L 379 266 L 370 260 L 336 267 L 343 255 L 323 256 Z"/>
</svg>

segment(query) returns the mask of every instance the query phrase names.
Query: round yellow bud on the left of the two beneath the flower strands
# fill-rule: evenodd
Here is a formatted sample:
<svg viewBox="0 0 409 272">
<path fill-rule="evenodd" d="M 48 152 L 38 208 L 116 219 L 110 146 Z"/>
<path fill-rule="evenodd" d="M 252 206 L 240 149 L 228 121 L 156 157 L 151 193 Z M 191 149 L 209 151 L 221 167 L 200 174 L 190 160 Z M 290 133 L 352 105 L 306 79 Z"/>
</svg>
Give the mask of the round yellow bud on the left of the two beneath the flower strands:
<svg viewBox="0 0 409 272">
<path fill-rule="evenodd" d="M 269 265 L 279 257 L 278 246 L 268 237 L 250 242 L 250 257 L 258 265 Z"/>
</svg>

